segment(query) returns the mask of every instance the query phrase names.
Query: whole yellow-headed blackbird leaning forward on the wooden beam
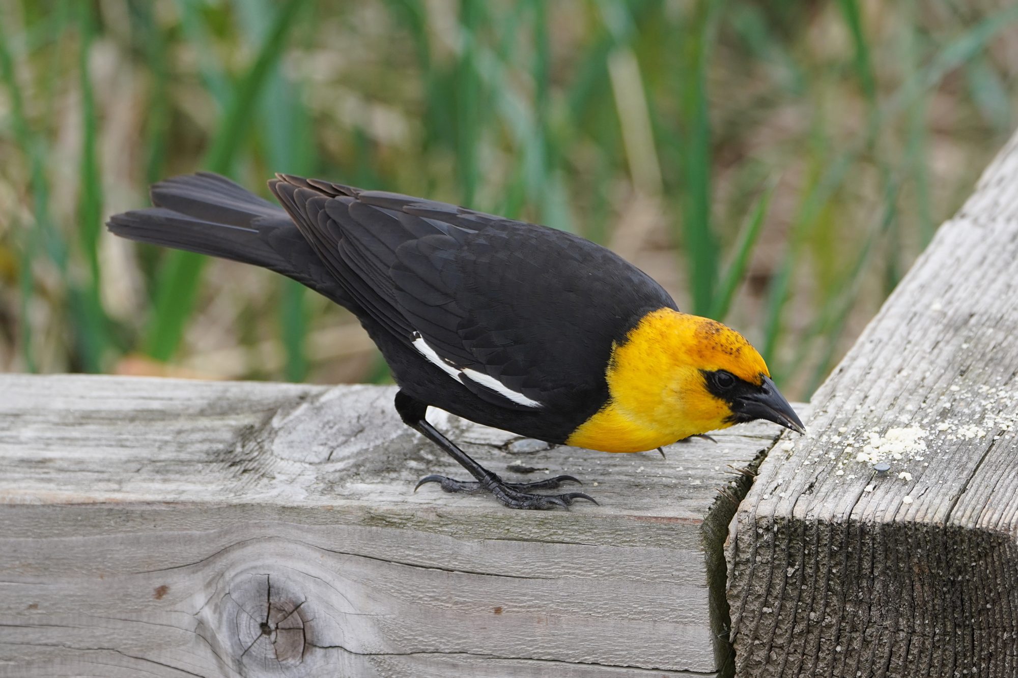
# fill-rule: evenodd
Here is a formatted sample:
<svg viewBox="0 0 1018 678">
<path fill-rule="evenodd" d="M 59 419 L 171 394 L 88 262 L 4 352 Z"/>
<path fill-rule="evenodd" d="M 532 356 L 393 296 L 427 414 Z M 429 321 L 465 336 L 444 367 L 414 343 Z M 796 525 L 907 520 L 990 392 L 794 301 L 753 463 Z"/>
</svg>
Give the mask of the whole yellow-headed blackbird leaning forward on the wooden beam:
<svg viewBox="0 0 1018 678">
<path fill-rule="evenodd" d="M 278 175 L 283 210 L 215 174 L 152 188 L 154 209 L 114 216 L 117 235 L 262 266 L 348 308 L 399 385 L 403 421 L 513 508 L 569 475 L 507 483 L 425 419 L 429 405 L 550 443 L 653 450 L 756 418 L 802 422 L 759 353 L 721 323 L 680 313 L 646 274 L 562 231 L 464 208 Z M 418 487 L 419 485 L 418 484 Z"/>
</svg>

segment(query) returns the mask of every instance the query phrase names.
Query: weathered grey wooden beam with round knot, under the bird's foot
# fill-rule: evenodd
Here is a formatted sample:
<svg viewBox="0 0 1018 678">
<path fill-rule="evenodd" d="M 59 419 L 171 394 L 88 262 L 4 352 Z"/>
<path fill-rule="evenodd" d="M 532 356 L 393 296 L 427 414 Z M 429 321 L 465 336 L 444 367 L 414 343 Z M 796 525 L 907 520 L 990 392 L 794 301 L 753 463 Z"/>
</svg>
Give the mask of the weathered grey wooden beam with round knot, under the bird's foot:
<svg viewBox="0 0 1018 678">
<path fill-rule="evenodd" d="M 434 412 L 494 470 L 571 472 L 602 502 L 512 511 L 412 493 L 462 473 L 393 394 L 0 376 L 0 676 L 726 670 L 719 489 L 741 496 L 777 427 L 663 460 Z"/>
</svg>

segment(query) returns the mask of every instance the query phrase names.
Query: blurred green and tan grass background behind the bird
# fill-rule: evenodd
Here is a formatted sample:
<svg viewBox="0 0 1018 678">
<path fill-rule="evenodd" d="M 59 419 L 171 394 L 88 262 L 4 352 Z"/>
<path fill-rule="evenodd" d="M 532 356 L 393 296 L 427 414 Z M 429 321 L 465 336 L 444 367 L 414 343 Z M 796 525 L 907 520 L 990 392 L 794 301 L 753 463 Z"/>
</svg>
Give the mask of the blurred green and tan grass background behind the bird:
<svg viewBox="0 0 1018 678">
<path fill-rule="evenodd" d="M 386 380 L 296 283 L 103 228 L 172 174 L 283 171 L 580 233 L 806 398 L 1016 77 L 1007 0 L 0 0 L 0 370 Z"/>
</svg>

